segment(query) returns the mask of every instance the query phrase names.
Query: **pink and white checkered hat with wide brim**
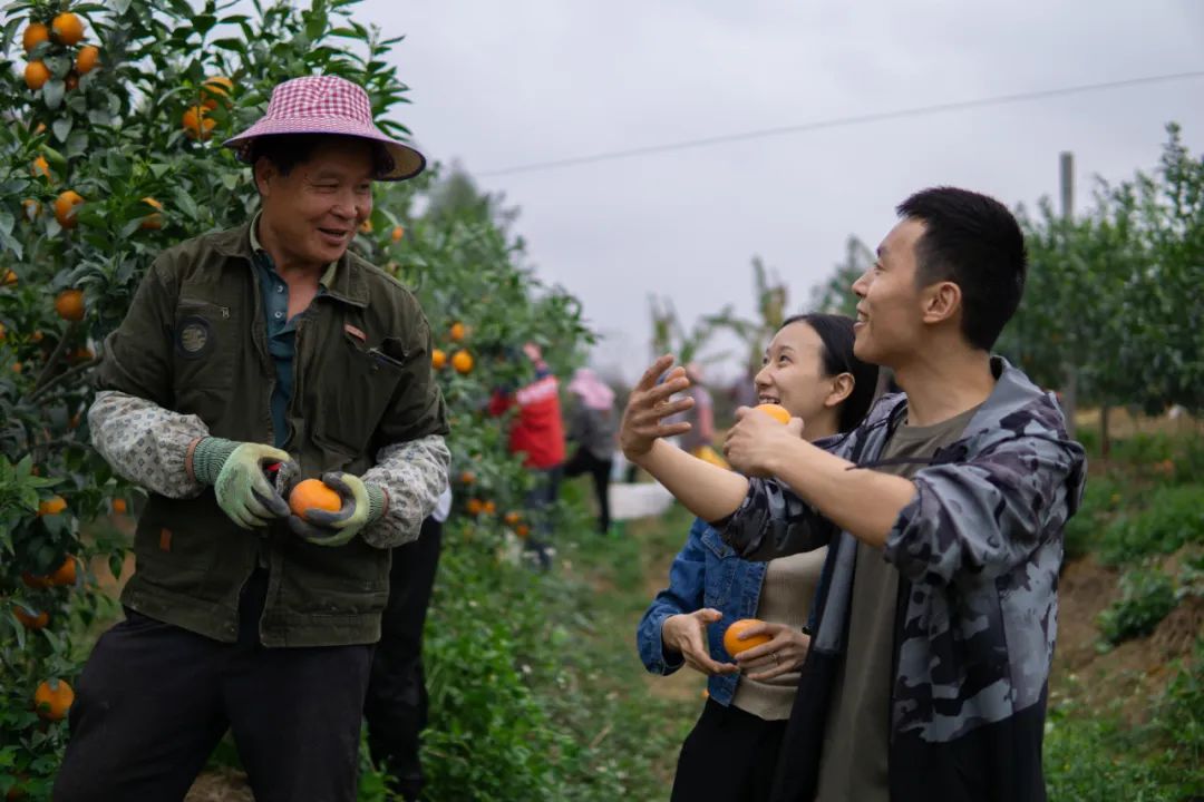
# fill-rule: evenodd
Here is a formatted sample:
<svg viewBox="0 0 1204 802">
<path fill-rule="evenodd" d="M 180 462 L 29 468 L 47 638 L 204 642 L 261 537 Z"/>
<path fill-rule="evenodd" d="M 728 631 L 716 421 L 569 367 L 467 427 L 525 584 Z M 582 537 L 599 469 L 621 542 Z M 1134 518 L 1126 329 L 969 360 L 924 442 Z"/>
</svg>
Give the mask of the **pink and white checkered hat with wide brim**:
<svg viewBox="0 0 1204 802">
<path fill-rule="evenodd" d="M 247 161 L 250 143 L 258 137 L 289 133 L 334 133 L 379 142 L 393 159 L 393 166 L 377 176 L 378 180 L 413 178 L 426 167 L 423 154 L 385 136 L 376 126 L 367 93 L 337 76 L 306 76 L 285 81 L 272 90 L 267 113 L 223 144 L 232 148 L 241 161 Z"/>
</svg>

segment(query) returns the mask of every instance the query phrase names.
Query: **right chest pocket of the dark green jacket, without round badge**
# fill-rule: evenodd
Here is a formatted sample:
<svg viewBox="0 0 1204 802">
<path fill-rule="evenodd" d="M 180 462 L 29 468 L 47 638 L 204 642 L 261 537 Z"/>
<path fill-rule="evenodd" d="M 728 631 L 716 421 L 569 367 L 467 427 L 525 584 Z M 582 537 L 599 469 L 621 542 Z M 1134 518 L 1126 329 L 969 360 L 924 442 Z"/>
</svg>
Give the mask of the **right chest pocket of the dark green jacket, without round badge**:
<svg viewBox="0 0 1204 802">
<path fill-rule="evenodd" d="M 321 409 L 314 417 L 320 439 L 362 455 L 405 376 L 406 352 L 400 340 L 377 346 L 343 332 L 326 346 L 326 369 L 318 393 Z"/>
</svg>

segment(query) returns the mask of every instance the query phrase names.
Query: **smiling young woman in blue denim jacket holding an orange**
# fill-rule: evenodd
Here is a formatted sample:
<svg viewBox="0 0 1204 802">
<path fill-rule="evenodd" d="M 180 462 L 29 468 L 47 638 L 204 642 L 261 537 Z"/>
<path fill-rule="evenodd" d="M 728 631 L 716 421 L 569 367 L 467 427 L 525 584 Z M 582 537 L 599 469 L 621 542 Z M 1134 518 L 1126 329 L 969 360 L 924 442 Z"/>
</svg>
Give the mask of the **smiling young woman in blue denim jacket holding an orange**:
<svg viewBox="0 0 1204 802">
<path fill-rule="evenodd" d="M 780 404 L 804 422 L 803 436 L 836 442 L 869 409 L 878 368 L 852 355 L 852 320 L 840 315 L 790 317 L 769 343 L 755 378 L 760 403 Z M 768 798 L 778 747 L 810 638 L 804 634 L 826 548 L 751 563 L 702 519 L 669 568 L 639 622 L 644 666 L 673 673 L 689 665 L 708 677 L 702 717 L 681 747 L 673 801 Z M 734 661 L 722 646 L 732 622 L 760 618 L 746 630 L 768 643 Z"/>
</svg>

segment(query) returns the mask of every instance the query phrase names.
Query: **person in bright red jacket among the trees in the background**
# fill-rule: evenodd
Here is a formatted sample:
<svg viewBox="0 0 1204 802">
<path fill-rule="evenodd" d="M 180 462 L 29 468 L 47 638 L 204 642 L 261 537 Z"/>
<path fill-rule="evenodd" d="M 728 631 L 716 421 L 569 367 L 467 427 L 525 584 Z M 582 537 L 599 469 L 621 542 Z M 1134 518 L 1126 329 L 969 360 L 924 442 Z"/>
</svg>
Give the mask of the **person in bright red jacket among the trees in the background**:
<svg viewBox="0 0 1204 802">
<path fill-rule="evenodd" d="M 494 391 L 489 402 L 490 415 L 502 415 L 512 406 L 518 412 L 510 423 L 510 453 L 525 455 L 523 464 L 535 476 L 535 487 L 526 505 L 533 529 L 527 548 L 533 551 L 544 570 L 551 568 L 549 539 L 551 525 L 545 509 L 560 494 L 560 476 L 565 463 L 565 427 L 560 416 L 560 381 L 543 361 L 543 352 L 535 343 L 523 346 L 523 352 L 535 363 L 535 380 L 515 391 Z"/>
</svg>

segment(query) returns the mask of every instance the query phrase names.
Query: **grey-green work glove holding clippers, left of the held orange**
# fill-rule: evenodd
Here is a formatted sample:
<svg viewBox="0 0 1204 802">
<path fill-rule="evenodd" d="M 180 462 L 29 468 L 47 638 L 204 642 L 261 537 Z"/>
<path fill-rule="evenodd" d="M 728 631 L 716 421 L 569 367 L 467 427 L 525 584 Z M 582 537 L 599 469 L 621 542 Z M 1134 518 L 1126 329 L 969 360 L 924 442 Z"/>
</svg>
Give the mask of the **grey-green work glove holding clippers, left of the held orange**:
<svg viewBox="0 0 1204 802">
<path fill-rule="evenodd" d="M 289 513 L 288 503 L 265 473 L 273 463 L 295 471 L 288 452 L 259 442 L 205 438 L 193 451 L 193 475 L 213 486 L 218 506 L 243 529 L 266 527 Z"/>
</svg>

